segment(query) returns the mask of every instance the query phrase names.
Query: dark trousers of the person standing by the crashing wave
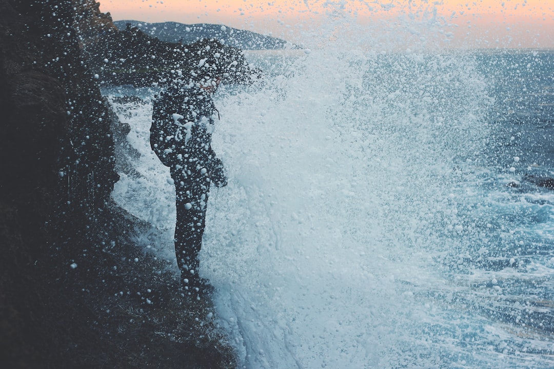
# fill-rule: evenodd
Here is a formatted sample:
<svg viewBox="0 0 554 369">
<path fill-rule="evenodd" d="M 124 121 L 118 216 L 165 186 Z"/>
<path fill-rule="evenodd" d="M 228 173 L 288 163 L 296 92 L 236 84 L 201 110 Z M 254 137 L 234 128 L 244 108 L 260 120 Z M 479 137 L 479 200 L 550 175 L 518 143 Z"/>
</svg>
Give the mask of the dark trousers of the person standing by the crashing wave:
<svg viewBox="0 0 554 369">
<path fill-rule="evenodd" d="M 198 277 L 198 253 L 206 227 L 209 181 L 206 178 L 181 185 L 175 181 L 177 222 L 175 225 L 175 256 L 181 280 L 191 283 Z"/>
</svg>

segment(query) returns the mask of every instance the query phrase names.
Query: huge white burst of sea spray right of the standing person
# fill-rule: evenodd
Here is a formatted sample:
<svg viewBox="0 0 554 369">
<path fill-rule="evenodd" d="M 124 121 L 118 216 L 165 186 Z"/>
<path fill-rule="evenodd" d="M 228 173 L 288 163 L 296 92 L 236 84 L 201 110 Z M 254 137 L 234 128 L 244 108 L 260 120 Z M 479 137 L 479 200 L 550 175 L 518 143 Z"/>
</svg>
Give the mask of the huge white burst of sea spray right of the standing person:
<svg viewBox="0 0 554 369">
<path fill-rule="evenodd" d="M 440 363 L 408 349 L 430 319 L 409 286 L 456 232 L 448 185 L 481 152 L 485 79 L 469 56 L 326 51 L 220 98 L 230 182 L 201 273 L 247 367 Z"/>
</svg>

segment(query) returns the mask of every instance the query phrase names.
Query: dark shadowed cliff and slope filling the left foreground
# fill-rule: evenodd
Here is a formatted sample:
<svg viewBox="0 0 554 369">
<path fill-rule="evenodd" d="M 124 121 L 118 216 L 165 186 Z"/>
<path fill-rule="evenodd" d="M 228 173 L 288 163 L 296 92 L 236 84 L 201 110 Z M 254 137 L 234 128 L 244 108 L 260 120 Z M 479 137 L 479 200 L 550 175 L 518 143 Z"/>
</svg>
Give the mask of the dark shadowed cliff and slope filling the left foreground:
<svg viewBox="0 0 554 369">
<path fill-rule="evenodd" d="M 121 127 L 74 24 L 69 0 L 0 0 L 0 362 L 234 367 L 209 301 L 173 287 L 134 243 L 155 230 L 110 200 Z"/>
</svg>

